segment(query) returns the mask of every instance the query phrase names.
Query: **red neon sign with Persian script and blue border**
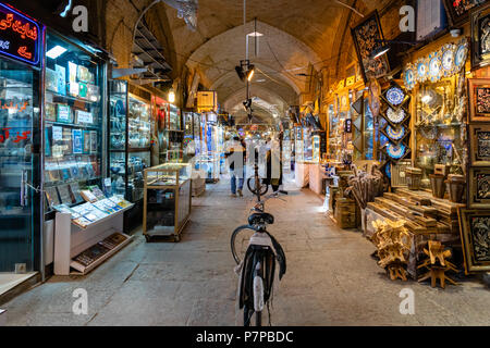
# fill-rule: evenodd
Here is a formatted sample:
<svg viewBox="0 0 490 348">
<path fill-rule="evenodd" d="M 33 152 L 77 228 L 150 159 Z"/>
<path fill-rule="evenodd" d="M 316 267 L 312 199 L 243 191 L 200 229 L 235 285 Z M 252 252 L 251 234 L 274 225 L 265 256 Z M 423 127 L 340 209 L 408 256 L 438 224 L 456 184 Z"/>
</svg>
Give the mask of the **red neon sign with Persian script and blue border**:
<svg viewBox="0 0 490 348">
<path fill-rule="evenodd" d="M 0 3 L 0 53 L 37 65 L 41 41 L 39 24 Z"/>
</svg>

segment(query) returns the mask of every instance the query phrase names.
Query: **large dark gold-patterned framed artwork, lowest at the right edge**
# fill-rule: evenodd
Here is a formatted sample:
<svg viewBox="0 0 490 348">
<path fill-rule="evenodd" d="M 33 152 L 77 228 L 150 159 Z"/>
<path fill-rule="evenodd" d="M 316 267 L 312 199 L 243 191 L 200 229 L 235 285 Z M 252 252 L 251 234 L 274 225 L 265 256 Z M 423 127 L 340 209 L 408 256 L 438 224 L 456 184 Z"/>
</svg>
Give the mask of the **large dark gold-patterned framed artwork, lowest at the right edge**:
<svg viewBox="0 0 490 348">
<path fill-rule="evenodd" d="M 465 272 L 490 271 L 490 210 L 458 211 Z"/>
</svg>

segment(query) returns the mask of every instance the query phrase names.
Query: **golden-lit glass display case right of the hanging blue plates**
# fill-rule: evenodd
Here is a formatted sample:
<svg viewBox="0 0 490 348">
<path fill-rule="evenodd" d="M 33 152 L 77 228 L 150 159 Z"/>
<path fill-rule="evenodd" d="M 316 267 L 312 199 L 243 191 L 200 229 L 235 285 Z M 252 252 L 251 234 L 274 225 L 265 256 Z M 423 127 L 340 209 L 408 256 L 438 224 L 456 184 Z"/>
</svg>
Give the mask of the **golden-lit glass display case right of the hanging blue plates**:
<svg viewBox="0 0 490 348">
<path fill-rule="evenodd" d="M 416 92 L 415 165 L 422 170 L 421 186 L 430 187 L 436 164 L 462 174 L 462 120 L 456 116 L 456 77 L 421 84 Z"/>
</svg>

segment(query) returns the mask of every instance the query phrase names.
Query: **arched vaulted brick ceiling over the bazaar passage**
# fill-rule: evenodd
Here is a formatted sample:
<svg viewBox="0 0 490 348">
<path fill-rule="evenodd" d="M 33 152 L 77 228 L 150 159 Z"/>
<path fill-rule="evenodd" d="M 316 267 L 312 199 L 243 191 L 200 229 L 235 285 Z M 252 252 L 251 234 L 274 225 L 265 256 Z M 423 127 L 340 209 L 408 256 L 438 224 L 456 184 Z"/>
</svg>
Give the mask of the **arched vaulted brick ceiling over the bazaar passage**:
<svg viewBox="0 0 490 348">
<path fill-rule="evenodd" d="M 164 12 L 175 46 L 179 71 L 197 71 L 204 84 L 218 91 L 228 111 L 238 110 L 245 99 L 234 66 L 245 58 L 245 35 L 257 30 L 259 54 L 250 41 L 250 60 L 259 69 L 254 78 L 253 97 L 282 103 L 279 110 L 298 101 L 307 91 L 308 64 L 320 69 L 335 64 L 343 45 L 351 41 L 348 27 L 360 16 L 334 0 L 247 0 L 244 27 L 242 0 L 199 0 L 197 30 L 191 32 L 177 18 L 176 10 L 163 2 L 155 10 Z M 363 13 L 382 9 L 390 0 L 342 0 Z M 154 10 L 154 9 L 151 9 Z M 350 24 L 347 24 L 350 23 Z M 240 96 L 242 94 L 242 96 Z M 238 97 L 240 96 L 240 97 Z M 271 101 L 272 102 L 272 101 Z M 234 103 L 234 104 L 233 104 Z M 273 105 L 273 102 L 272 102 Z"/>
</svg>

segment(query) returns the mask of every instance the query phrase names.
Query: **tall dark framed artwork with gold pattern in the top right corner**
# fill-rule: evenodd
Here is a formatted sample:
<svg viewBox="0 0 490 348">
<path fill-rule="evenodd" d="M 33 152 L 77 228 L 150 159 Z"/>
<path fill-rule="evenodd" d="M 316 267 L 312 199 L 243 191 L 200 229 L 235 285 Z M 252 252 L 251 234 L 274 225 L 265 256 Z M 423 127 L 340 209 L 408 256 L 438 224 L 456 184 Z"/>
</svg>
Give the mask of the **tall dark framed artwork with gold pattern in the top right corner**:
<svg viewBox="0 0 490 348">
<path fill-rule="evenodd" d="M 471 12 L 471 69 L 490 64 L 490 3 Z"/>
</svg>

